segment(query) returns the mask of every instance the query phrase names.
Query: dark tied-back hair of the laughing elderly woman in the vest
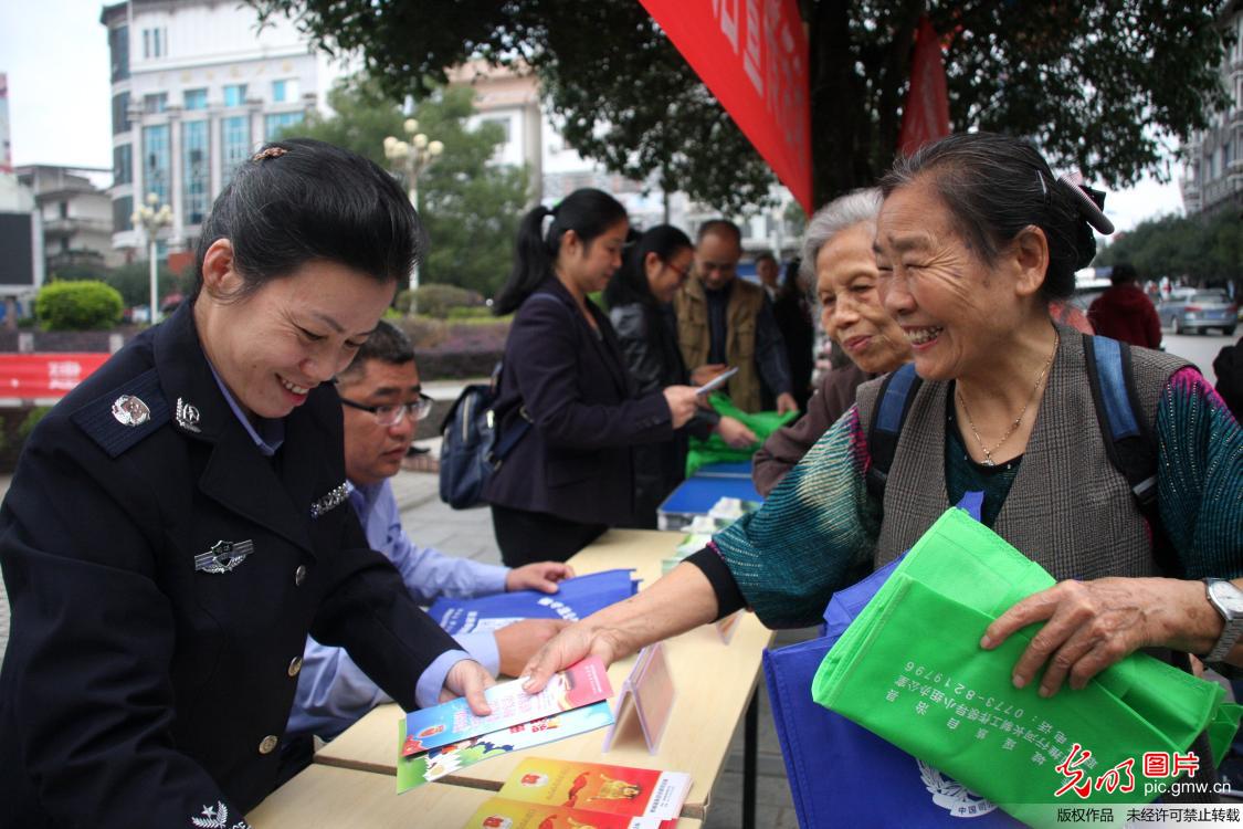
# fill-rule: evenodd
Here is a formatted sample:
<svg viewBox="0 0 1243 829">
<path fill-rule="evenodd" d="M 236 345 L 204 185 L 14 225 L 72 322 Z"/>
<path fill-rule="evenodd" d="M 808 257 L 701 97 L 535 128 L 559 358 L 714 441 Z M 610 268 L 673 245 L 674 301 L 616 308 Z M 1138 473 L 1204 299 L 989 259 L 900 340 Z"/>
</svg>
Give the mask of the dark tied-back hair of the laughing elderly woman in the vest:
<svg viewBox="0 0 1243 829">
<path fill-rule="evenodd" d="M 958 133 L 899 157 L 880 180 L 888 199 L 927 179 L 952 224 L 984 265 L 993 265 L 1024 229 L 1039 227 L 1049 244 L 1045 300 L 1074 292 L 1075 271 L 1096 255 L 1093 229 L 1073 185 L 1058 181 L 1030 142 L 993 133 Z M 1104 201 L 1104 195 L 1101 195 Z"/>
</svg>

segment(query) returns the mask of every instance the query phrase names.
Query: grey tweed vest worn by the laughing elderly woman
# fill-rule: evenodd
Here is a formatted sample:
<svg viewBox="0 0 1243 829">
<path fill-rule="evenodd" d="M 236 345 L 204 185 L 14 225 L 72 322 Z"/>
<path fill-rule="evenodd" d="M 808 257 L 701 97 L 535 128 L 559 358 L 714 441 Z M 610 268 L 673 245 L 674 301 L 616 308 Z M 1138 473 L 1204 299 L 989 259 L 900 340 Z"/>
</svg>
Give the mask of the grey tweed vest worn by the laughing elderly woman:
<svg viewBox="0 0 1243 829">
<path fill-rule="evenodd" d="M 1093 404 L 1083 337 L 1058 327 L 1062 346 L 1037 413 L 1018 475 L 993 529 L 1057 579 L 1154 575 L 1157 566 L 1126 479 L 1105 454 Z M 1154 429 L 1170 375 L 1188 365 L 1145 348 L 1131 349 L 1135 390 Z M 883 379 L 859 387 L 859 421 L 868 434 Z M 875 567 L 891 562 L 950 506 L 945 483 L 946 394 L 950 384 L 920 385 L 902 425 L 885 487 Z"/>
</svg>

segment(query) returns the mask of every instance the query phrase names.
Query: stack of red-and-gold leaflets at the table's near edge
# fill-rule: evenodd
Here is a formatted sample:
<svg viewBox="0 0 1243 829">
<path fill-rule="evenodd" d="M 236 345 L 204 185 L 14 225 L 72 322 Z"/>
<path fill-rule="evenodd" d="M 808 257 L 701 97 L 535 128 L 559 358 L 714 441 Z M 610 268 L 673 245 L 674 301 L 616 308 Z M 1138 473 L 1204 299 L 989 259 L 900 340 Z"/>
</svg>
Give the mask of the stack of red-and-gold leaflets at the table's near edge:
<svg viewBox="0 0 1243 829">
<path fill-rule="evenodd" d="M 690 790 L 682 772 L 530 757 L 465 829 L 672 829 Z"/>
</svg>

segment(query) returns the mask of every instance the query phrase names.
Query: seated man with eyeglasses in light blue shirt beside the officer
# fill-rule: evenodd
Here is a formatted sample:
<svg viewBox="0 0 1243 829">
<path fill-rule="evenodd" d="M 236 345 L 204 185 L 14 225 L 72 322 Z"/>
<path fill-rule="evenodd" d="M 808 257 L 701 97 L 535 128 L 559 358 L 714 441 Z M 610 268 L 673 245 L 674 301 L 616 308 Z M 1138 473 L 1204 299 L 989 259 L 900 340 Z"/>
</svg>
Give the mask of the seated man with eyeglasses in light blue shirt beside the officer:
<svg viewBox="0 0 1243 829">
<path fill-rule="evenodd" d="M 393 562 L 420 604 L 441 595 L 465 598 L 522 589 L 554 593 L 557 582 L 573 575 L 568 566 L 558 562 L 515 569 L 481 564 L 418 547 L 405 534 L 389 479 L 401 469 L 416 421 L 431 413 L 433 401 L 423 393 L 414 349 L 401 331 L 382 321 L 337 375 L 337 392 L 344 414 L 349 503 L 367 541 Z M 496 631 L 460 634 L 456 639 L 493 675 L 515 676 L 563 625 L 552 619 L 525 619 Z M 308 638 L 282 741 L 297 746 L 286 752 L 286 768 L 296 771 L 310 759 L 311 735 L 336 737 L 374 706 L 389 701 L 343 649 Z"/>
</svg>

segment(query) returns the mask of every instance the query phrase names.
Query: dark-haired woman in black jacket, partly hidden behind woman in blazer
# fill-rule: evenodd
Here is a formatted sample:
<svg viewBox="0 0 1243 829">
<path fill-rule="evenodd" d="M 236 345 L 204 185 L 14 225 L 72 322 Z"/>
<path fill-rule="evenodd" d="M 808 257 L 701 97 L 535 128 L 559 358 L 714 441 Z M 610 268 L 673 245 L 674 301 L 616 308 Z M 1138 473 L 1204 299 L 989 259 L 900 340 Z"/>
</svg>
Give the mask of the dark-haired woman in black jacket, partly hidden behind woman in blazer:
<svg viewBox="0 0 1243 829">
<path fill-rule="evenodd" d="M 686 234 L 672 225 L 656 225 L 635 240 L 622 271 L 604 288 L 609 319 L 640 393 L 695 383 L 677 347 L 672 306 L 694 254 Z M 704 377 L 707 379 L 711 372 Z M 738 449 L 756 444 L 755 433 L 738 420 L 701 408 L 669 440 L 635 446 L 635 515 L 630 526 L 656 528 L 656 508 L 686 477 L 687 437 L 707 437 L 712 433 Z"/>
</svg>

